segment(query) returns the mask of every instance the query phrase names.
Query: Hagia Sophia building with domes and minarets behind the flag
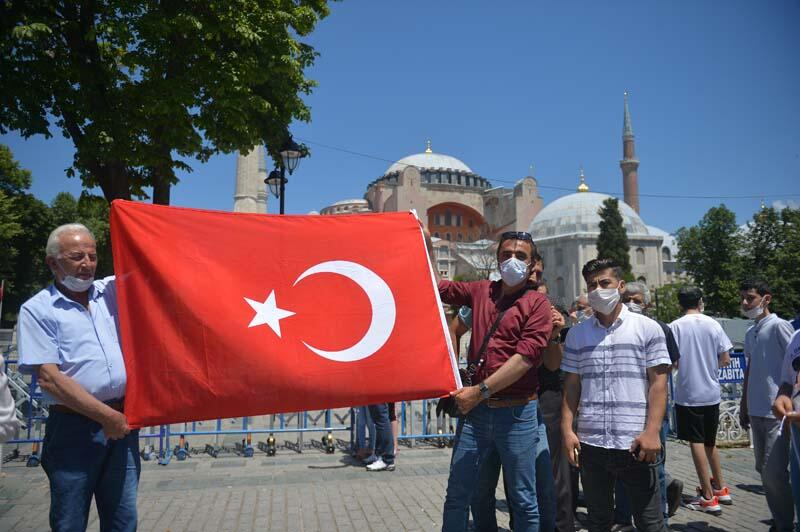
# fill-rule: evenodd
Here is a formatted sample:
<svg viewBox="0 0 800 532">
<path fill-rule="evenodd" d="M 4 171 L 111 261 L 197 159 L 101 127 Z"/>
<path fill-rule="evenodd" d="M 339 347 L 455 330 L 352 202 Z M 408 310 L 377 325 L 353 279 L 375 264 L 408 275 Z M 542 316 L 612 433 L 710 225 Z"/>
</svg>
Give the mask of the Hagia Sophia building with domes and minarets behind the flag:
<svg viewBox="0 0 800 532">
<path fill-rule="evenodd" d="M 628 96 L 622 129 L 622 184 L 619 202 L 630 244 L 633 275 L 651 289 L 677 275 L 675 239 L 646 225 L 639 213 L 638 168 Z M 239 155 L 234 211 L 266 212 L 264 150 Z M 463 161 L 425 151 L 392 164 L 367 185 L 363 199 L 337 201 L 320 215 L 396 212 L 415 209 L 434 237 L 435 261 L 444 278 L 486 278 L 497 270 L 495 243 L 505 231 L 528 231 L 544 259 L 550 293 L 569 305 L 586 292 L 583 265 L 597 257 L 599 210 L 610 196 L 591 192 L 583 169 L 575 193 L 545 205 L 536 178 L 523 177 L 513 188 L 494 187 Z"/>
</svg>

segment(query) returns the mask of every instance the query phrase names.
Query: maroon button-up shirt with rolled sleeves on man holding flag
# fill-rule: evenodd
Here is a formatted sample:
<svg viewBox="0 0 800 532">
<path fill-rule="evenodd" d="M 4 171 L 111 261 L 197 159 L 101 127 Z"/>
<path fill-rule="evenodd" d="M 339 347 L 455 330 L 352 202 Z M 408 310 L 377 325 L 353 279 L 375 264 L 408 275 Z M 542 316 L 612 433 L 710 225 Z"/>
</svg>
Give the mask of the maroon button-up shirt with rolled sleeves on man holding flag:
<svg viewBox="0 0 800 532">
<path fill-rule="evenodd" d="M 474 382 L 486 379 L 518 353 L 527 358 L 533 367 L 495 396 L 521 398 L 529 397 L 537 391 L 537 368 L 553 330 L 550 303 L 544 294 L 527 290 L 522 296 L 512 294 L 503 297 L 501 281 L 443 280 L 439 282 L 439 296 L 445 303 L 472 308 L 473 326 L 469 352 L 473 356 L 477 356 L 497 315 L 507 308 L 486 346 L 485 363 L 478 369 Z"/>
</svg>

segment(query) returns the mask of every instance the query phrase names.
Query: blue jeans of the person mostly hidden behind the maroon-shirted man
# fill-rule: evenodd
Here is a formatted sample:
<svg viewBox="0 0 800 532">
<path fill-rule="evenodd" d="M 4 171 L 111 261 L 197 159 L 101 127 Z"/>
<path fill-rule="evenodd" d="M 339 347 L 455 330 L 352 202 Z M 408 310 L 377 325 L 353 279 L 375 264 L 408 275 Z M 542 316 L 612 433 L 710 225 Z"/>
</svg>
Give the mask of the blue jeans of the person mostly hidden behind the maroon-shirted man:
<svg viewBox="0 0 800 532">
<path fill-rule="evenodd" d="M 539 504 L 539 528 L 545 532 L 553 532 L 556 528 L 556 498 L 553 481 L 553 465 L 550 461 L 550 449 L 547 446 L 547 427 L 542 422 L 541 412 L 538 416 L 539 446 L 536 449 L 536 499 Z M 497 513 L 495 490 L 500 477 L 500 454 L 492 449 L 481 465 L 478 486 L 472 496 L 472 521 L 475 532 L 497 532 Z M 503 475 L 503 488 L 508 499 L 507 475 Z"/>
</svg>

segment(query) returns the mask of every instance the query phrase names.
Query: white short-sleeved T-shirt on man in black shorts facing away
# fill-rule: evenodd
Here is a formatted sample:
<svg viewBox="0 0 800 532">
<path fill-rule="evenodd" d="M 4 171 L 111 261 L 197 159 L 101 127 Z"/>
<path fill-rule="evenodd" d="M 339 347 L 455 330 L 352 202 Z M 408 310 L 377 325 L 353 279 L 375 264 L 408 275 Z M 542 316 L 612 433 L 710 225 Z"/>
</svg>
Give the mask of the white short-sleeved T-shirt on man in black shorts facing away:
<svg viewBox="0 0 800 532">
<path fill-rule="evenodd" d="M 719 403 L 719 355 L 733 348 L 730 338 L 705 314 L 686 314 L 669 326 L 681 351 L 675 402 L 683 406 Z"/>
</svg>

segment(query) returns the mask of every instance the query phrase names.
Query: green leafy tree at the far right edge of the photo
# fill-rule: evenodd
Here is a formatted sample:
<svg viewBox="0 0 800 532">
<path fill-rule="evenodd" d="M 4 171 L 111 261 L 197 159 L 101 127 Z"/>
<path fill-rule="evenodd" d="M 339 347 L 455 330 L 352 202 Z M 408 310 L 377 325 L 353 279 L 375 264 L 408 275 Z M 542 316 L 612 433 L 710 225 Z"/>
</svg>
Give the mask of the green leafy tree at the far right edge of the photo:
<svg viewBox="0 0 800 532">
<path fill-rule="evenodd" d="M 770 310 L 800 313 L 800 209 L 761 209 L 744 235 L 744 275 L 772 287 Z"/>
</svg>

